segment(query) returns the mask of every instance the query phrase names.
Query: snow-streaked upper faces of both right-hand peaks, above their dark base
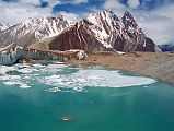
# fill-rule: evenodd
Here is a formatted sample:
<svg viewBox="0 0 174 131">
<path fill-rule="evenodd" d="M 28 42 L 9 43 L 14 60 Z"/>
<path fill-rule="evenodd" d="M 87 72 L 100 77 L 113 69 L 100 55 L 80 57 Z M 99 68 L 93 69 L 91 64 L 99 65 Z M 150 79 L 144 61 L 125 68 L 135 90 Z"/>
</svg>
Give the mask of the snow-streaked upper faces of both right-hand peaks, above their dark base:
<svg viewBox="0 0 174 131">
<path fill-rule="evenodd" d="M 147 46 L 144 34 L 132 15 L 127 11 L 121 21 L 112 11 L 92 13 L 86 20 L 92 24 L 90 28 L 95 37 L 106 48 L 113 48 L 118 39 L 137 43 L 143 47 Z M 135 48 L 137 46 L 135 46 Z"/>
</svg>

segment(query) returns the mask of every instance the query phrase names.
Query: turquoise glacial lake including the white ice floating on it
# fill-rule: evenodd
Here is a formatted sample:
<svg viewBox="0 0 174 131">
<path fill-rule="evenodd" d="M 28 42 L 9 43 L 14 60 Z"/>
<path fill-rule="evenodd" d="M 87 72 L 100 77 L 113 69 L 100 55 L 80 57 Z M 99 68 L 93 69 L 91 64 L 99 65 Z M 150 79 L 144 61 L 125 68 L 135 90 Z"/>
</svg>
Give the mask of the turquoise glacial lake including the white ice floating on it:
<svg viewBox="0 0 174 131">
<path fill-rule="evenodd" d="M 0 131 L 174 131 L 174 86 L 128 71 L 0 67 Z"/>
</svg>

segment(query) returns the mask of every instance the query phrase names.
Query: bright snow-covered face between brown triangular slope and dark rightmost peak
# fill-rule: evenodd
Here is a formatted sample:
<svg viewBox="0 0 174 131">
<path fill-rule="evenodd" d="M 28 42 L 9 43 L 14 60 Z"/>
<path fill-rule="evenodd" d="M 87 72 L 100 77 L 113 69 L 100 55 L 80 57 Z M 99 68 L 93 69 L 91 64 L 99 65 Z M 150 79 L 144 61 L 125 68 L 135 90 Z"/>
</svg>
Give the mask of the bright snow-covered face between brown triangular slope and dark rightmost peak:
<svg viewBox="0 0 174 131">
<path fill-rule="evenodd" d="M 118 29 L 121 33 L 119 19 L 112 11 L 103 11 L 101 13 L 90 14 L 86 20 L 93 24 L 91 25 L 91 29 L 95 34 L 95 37 L 106 48 L 112 48 L 112 33 L 117 31 L 117 26 L 119 26 Z"/>
</svg>

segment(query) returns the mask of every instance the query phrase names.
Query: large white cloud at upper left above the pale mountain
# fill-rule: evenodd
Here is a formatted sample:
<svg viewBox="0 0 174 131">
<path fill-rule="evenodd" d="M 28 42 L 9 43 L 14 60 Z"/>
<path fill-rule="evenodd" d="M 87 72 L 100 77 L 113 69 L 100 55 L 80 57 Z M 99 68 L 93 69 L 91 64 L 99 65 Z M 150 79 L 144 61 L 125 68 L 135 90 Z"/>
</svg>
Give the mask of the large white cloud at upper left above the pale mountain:
<svg viewBox="0 0 174 131">
<path fill-rule="evenodd" d="M 0 2 L 0 22 L 9 23 L 10 25 L 18 24 L 22 21 L 33 16 L 47 16 L 51 15 L 50 8 L 36 8 L 34 3 L 9 3 Z"/>
</svg>

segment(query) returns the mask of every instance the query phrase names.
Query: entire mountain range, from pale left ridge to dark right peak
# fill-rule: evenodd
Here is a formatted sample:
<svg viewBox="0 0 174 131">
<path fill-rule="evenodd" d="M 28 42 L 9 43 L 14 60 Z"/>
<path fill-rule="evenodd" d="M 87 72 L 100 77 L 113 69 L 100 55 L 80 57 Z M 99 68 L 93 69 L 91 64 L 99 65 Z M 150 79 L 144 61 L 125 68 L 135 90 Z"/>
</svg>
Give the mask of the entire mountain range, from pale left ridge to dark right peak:
<svg viewBox="0 0 174 131">
<path fill-rule="evenodd" d="M 20 45 L 40 50 L 155 51 L 134 16 L 119 20 L 112 11 L 92 13 L 80 22 L 58 17 L 31 17 L 0 32 L 0 47 Z"/>
</svg>

